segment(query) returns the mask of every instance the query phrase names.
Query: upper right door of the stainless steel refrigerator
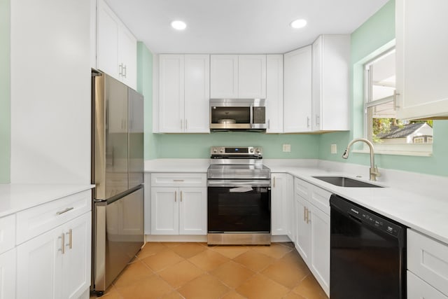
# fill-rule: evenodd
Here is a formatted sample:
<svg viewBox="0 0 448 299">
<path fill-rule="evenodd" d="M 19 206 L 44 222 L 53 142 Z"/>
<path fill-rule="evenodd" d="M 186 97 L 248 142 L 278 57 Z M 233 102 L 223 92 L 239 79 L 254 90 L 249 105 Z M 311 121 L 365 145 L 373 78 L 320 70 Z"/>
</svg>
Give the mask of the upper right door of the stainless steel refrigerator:
<svg viewBox="0 0 448 299">
<path fill-rule="evenodd" d="M 144 181 L 144 97 L 129 89 L 129 188 Z"/>
</svg>

